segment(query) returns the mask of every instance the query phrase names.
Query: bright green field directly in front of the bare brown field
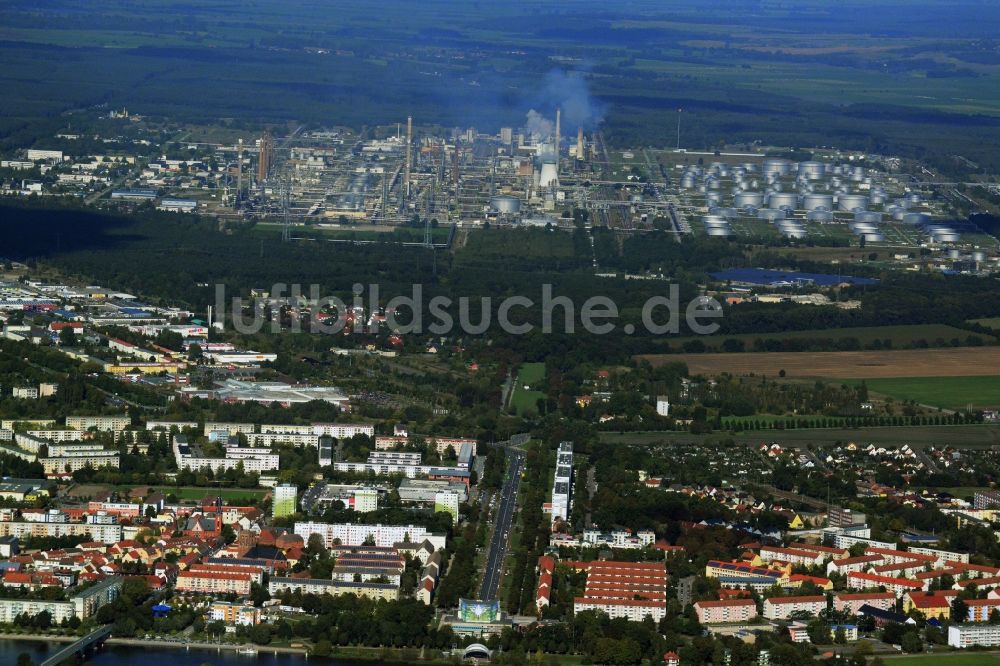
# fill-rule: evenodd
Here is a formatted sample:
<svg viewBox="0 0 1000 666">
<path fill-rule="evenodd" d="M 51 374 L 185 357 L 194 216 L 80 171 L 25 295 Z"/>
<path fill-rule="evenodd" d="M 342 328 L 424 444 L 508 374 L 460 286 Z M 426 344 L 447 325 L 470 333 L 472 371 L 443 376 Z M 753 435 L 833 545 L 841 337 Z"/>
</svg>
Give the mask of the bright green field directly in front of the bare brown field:
<svg viewBox="0 0 1000 666">
<path fill-rule="evenodd" d="M 846 380 L 860 384 L 859 380 Z M 1000 407 L 1000 375 L 995 377 L 898 377 L 866 379 L 868 390 L 897 400 L 915 400 L 944 409 Z"/>
</svg>

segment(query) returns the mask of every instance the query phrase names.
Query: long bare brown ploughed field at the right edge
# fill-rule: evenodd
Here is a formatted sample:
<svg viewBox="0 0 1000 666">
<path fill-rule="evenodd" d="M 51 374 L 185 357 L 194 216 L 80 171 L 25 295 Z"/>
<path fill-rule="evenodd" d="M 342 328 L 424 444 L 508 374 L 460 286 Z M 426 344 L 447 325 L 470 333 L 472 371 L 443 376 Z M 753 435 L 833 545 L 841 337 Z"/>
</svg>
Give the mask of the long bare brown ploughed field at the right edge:
<svg viewBox="0 0 1000 666">
<path fill-rule="evenodd" d="M 766 375 L 876 379 L 885 377 L 991 377 L 1000 348 L 959 347 L 899 351 L 760 352 L 740 354 L 645 354 L 652 365 L 686 363 L 692 375 Z"/>
</svg>

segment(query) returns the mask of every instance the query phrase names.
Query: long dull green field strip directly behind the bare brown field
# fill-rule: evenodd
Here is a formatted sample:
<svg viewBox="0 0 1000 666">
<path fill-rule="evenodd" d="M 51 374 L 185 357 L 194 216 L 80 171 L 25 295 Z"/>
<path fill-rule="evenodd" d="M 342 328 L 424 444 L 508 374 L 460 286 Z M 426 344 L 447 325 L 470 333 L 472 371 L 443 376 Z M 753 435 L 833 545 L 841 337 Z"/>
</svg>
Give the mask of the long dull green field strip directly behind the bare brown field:
<svg viewBox="0 0 1000 666">
<path fill-rule="evenodd" d="M 1000 323 L 1000 320 L 998 320 Z M 920 341 L 930 345 L 943 346 L 951 344 L 951 340 L 958 339 L 964 341 L 970 335 L 969 331 L 948 326 L 946 324 L 914 324 L 903 326 L 864 326 L 853 328 L 836 328 L 811 331 L 785 331 L 782 333 L 740 333 L 737 335 L 712 335 L 712 336 L 687 336 L 682 338 L 672 338 L 667 342 L 673 347 L 683 345 L 685 342 L 700 340 L 709 349 L 719 349 L 722 343 L 728 339 L 742 341 L 749 348 L 754 340 L 846 340 L 855 338 L 862 346 L 870 345 L 876 340 L 880 343 L 890 340 L 893 347 L 909 347 Z M 984 342 L 994 342 L 995 337 L 975 333 Z"/>
</svg>

